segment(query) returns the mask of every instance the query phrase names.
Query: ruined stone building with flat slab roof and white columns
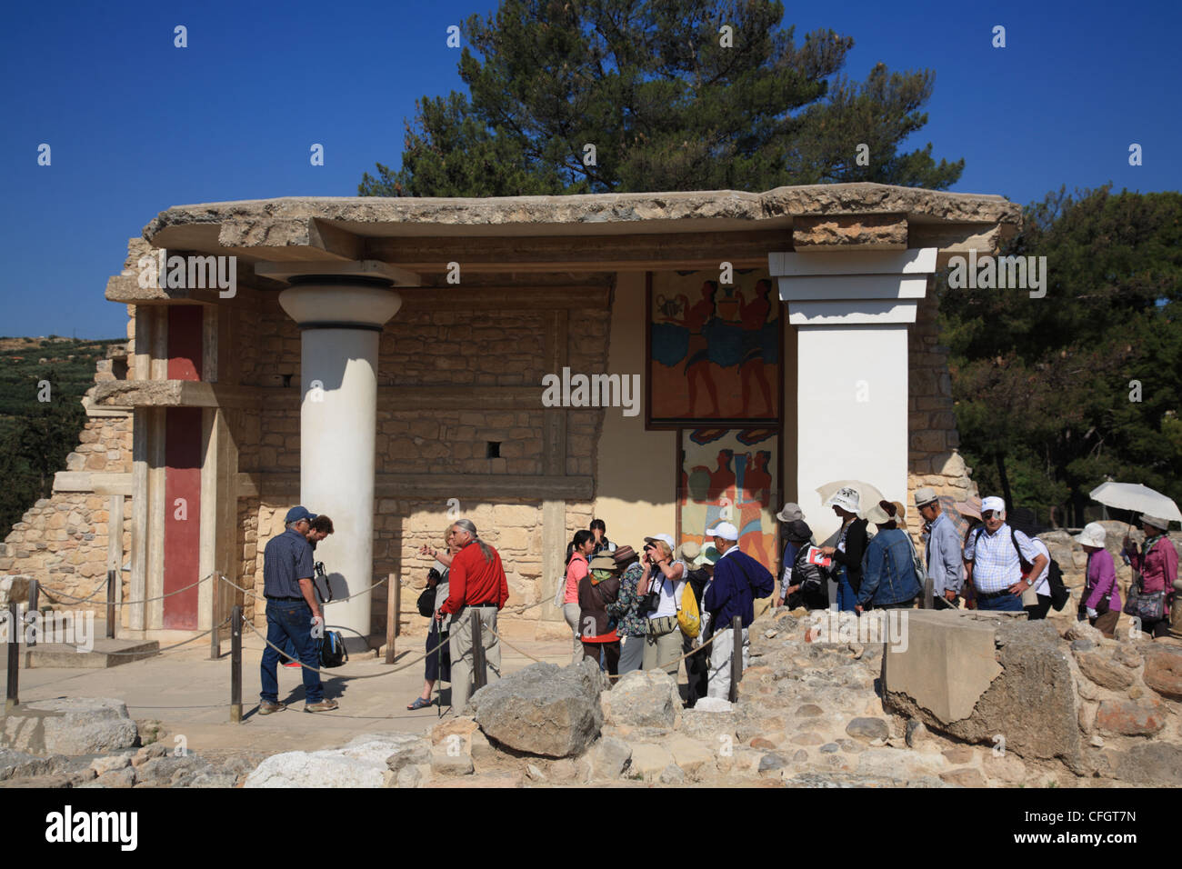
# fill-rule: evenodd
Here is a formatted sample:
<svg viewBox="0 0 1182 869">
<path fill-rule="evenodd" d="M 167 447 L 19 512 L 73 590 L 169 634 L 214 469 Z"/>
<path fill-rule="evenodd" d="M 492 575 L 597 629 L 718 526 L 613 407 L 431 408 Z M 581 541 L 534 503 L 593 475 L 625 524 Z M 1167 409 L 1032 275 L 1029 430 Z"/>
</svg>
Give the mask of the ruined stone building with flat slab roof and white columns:
<svg viewBox="0 0 1182 869">
<path fill-rule="evenodd" d="M 424 629 L 411 615 L 429 566 L 418 549 L 442 543 L 449 511 L 472 518 L 501 551 L 511 589 L 506 623 L 513 629 L 517 621 L 518 630 L 539 638 L 566 631 L 545 602 L 559 581 L 566 540 L 593 515 L 611 515 L 609 532 L 622 543 L 674 531 L 639 526 L 673 525 L 676 435 L 647 429 L 643 415 L 544 407 L 541 378 L 563 367 L 644 371 L 645 273 L 716 270 L 720 252 L 735 268 L 778 281 L 787 384 L 778 461 L 788 497 L 799 491 L 803 500 L 814 499 L 813 476 L 838 473 L 840 456 L 855 449 L 860 435 L 851 430 L 843 433 L 849 449 L 825 450 L 832 427 L 817 419 L 826 409 L 858 408 L 849 407 L 844 380 L 818 363 L 842 330 L 870 325 L 846 361 L 864 367 L 889 359 L 879 367 L 892 378 L 889 397 L 860 407 L 870 409 L 866 419 L 889 424 L 882 434 L 890 443 L 860 467 L 892 475 L 870 482 L 900 493 L 905 486 L 917 533 L 916 487 L 957 499 L 975 493 L 957 452 L 930 275 L 954 253 L 995 251 L 1019 220 L 1020 209 L 1000 196 L 882 184 L 170 208 L 130 241 L 122 273 L 108 283 L 106 298 L 128 305 L 125 352 L 99 364 L 84 401 L 89 421 L 52 497 L 32 505 L 0 547 L 0 597 L 20 596 L 21 583 L 35 577 L 44 604 L 70 608 L 96 591 L 102 601 L 99 586 L 117 570 L 121 599 L 154 599 L 180 584 L 176 576 L 204 579 L 214 565 L 261 592 L 261 552 L 299 500 L 313 461 L 301 453 L 301 433 L 312 436 L 301 377 L 319 370 L 301 370 L 310 331 L 279 298 L 300 275 L 332 285 L 318 270 L 355 285 L 372 280 L 374 270 L 394 275 L 401 298 L 396 316 L 388 312 L 366 329 L 379 332 L 371 578 L 401 579 L 404 628 Z M 137 280 L 141 258 L 164 248 L 236 255 L 236 294 L 145 288 Z M 452 286 L 442 266 L 461 253 L 465 279 Z M 336 329 L 331 309 L 351 298 L 348 292 L 320 291 L 317 304 L 325 307 L 311 328 Z M 903 376 L 908 390 L 891 393 Z M 827 390 L 821 397 L 818 383 Z M 838 403 L 826 403 L 830 397 Z M 324 473 L 356 473 L 364 463 L 359 453 L 314 449 L 325 453 Z M 173 465 L 170 450 L 188 452 Z M 200 521 L 188 528 L 176 527 L 184 506 L 174 510 L 167 494 L 175 493 L 174 467 L 189 475 L 187 491 L 200 499 L 193 506 Z M 355 519 L 340 523 L 327 553 L 340 558 L 364 549 L 358 544 L 370 539 L 369 525 Z M 176 552 L 190 560 L 169 578 Z M 351 569 L 350 588 L 362 584 L 363 572 Z M 234 598 L 221 584 L 213 599 L 212 585 L 202 586 L 195 614 L 183 618 L 156 601 L 123 607 L 121 621 L 154 630 L 174 617 L 174 627 L 201 630 Z M 371 636 L 384 633 L 387 595 L 387 585 L 374 592 Z M 261 624 L 255 598 L 242 603 Z M 365 621 L 359 616 L 358 630 Z"/>
</svg>

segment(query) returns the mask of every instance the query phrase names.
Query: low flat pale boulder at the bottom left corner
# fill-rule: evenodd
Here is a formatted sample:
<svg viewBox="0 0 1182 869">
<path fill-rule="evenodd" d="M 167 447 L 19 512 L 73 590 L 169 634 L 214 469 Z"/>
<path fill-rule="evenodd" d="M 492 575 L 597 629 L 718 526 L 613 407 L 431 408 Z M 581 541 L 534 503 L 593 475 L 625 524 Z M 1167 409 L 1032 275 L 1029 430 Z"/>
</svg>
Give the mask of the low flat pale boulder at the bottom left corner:
<svg viewBox="0 0 1182 869">
<path fill-rule="evenodd" d="M 106 754 L 132 747 L 136 722 L 122 700 L 59 698 L 5 715 L 0 746 L 32 754 Z"/>
</svg>

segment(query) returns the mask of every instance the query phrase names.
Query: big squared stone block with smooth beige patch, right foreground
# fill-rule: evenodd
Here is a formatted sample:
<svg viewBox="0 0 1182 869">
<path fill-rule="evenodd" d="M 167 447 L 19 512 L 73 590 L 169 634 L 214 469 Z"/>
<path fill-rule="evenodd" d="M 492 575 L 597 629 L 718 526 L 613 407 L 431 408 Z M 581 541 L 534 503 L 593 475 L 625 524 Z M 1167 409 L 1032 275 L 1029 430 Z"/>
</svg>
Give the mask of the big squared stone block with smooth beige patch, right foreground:
<svg viewBox="0 0 1182 869">
<path fill-rule="evenodd" d="M 966 742 L 1004 745 L 1021 758 L 1058 758 L 1086 774 L 1070 653 L 1050 622 L 944 611 L 910 615 L 907 649 L 888 649 L 883 656 L 888 711 L 917 718 L 929 729 Z M 993 628 L 993 649 L 981 646 L 982 625 Z M 966 702 L 963 686 L 957 690 L 953 681 L 924 683 L 916 677 L 926 663 L 943 667 L 939 659 L 927 657 L 937 649 L 967 662 L 967 675 L 978 680 L 973 702 Z M 915 655 L 921 657 L 909 660 Z M 989 672 L 995 675 L 976 688 Z M 905 679 L 896 679 L 897 674 Z"/>
</svg>

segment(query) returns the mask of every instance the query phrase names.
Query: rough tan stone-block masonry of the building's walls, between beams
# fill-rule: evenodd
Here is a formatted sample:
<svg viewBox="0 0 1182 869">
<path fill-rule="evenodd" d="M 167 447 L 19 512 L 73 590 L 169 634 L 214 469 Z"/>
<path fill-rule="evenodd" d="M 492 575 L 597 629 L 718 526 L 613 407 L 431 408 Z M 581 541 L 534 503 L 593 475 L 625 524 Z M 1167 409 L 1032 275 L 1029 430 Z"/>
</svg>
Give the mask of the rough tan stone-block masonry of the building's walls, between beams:
<svg viewBox="0 0 1182 869">
<path fill-rule="evenodd" d="M 570 337 L 574 370 L 603 370 L 606 365 L 606 333 L 610 307 L 606 300 L 590 297 L 579 311 L 580 326 Z M 97 383 L 115 380 L 112 368 L 135 380 L 135 307 L 129 305 L 125 355 L 112 351 L 111 359 L 98 363 Z M 911 332 L 910 381 L 910 475 L 909 489 L 934 486 L 941 493 L 963 499 L 976 492 L 969 468 L 956 452 L 957 434 L 952 408 L 952 387 L 944 348 L 937 345 L 935 301 L 920 306 L 918 322 Z M 299 333 L 296 324 L 279 311 L 259 311 L 258 319 L 240 324 L 243 369 L 254 371 L 245 383 L 277 385 L 299 382 Z M 482 317 L 476 325 L 457 313 L 415 313 L 387 325 L 382 342 L 382 371 L 398 371 L 400 384 L 489 384 L 531 387 L 541 382 L 543 316 L 506 311 Z M 480 362 L 463 357 L 461 345 L 480 349 Z M 258 370 L 258 359 L 269 364 Z M 395 385 L 389 374 L 382 385 Z M 89 402 L 90 417 L 70 454 L 66 471 L 129 473 L 131 471 L 131 413 L 98 409 Z M 281 413 L 267 416 L 241 414 L 235 436 L 240 465 L 252 471 L 299 471 L 299 406 L 296 387 Z M 486 442 L 500 442 L 496 466 L 509 473 L 540 473 L 543 413 L 538 411 L 442 411 L 427 417 L 414 410 L 400 411 L 397 402 L 378 413 L 378 471 L 417 473 L 459 473 L 481 471 Z M 569 430 L 569 473 L 593 475 L 593 458 L 603 411 L 572 415 Z M 264 428 L 265 427 L 265 428 Z M 478 458 L 481 456 L 481 458 Z M 71 597 L 89 596 L 105 581 L 111 563 L 109 515 L 112 502 L 121 502 L 125 520 L 131 518 L 131 498 L 69 491 L 69 475 L 59 481 L 53 497 L 39 500 L 13 526 L 0 549 L 0 575 L 37 577 L 48 591 L 45 599 L 59 609 L 90 607 L 58 598 L 53 590 Z M 239 501 L 241 577 L 256 594 L 262 589 L 262 547 L 282 528 L 287 500 L 255 497 Z M 478 527 L 489 528 L 488 541 L 505 559 L 509 577 L 511 607 L 533 604 L 541 592 L 541 507 L 537 502 L 505 498 L 461 505 Z M 379 498 L 374 530 L 374 572 L 401 572 L 402 565 L 418 566 L 418 547 L 440 546 L 447 525 L 447 504 L 435 500 Z M 595 513 L 593 501 L 567 506 L 567 533 L 584 528 Z M 909 511 L 910 527 L 917 533 L 918 513 Z M 122 568 L 130 559 L 131 532 L 123 524 L 122 545 L 115 550 Z M 260 533 L 261 530 L 261 533 Z M 413 570 L 407 592 L 422 588 L 423 570 Z M 128 571 L 121 571 L 126 597 Z M 239 579 L 235 579 L 240 582 Z M 378 589 L 375 615 L 385 612 L 385 591 Z M 405 594 L 405 592 L 404 592 Z M 105 599 L 100 592 L 97 599 Z M 254 611 L 254 598 L 246 598 L 246 612 L 262 624 Z"/>
</svg>

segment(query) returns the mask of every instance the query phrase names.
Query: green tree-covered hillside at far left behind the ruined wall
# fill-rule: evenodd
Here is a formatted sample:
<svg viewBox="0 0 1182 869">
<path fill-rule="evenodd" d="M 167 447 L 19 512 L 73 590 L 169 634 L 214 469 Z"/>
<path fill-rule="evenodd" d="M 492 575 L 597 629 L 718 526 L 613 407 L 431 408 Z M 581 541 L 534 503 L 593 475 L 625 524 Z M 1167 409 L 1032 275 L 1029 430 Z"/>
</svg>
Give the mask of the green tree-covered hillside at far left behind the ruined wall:
<svg viewBox="0 0 1182 869">
<path fill-rule="evenodd" d="M 112 343 L 57 338 L 0 350 L 0 537 L 52 493 L 53 474 L 65 469 L 86 423 L 82 396 L 95 362 Z M 45 381 L 47 402 L 38 400 Z"/>
</svg>

